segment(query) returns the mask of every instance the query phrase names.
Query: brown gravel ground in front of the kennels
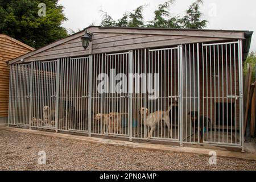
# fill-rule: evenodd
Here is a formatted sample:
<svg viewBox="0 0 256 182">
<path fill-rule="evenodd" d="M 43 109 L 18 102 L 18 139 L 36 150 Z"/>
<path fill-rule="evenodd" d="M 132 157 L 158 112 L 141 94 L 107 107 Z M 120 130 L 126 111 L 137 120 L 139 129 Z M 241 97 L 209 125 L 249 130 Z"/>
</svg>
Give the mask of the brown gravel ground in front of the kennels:
<svg viewBox="0 0 256 182">
<path fill-rule="evenodd" d="M 46 165 L 39 165 L 39 151 Z M 256 170 L 256 161 L 104 146 L 40 135 L 0 131 L 1 170 Z"/>
</svg>

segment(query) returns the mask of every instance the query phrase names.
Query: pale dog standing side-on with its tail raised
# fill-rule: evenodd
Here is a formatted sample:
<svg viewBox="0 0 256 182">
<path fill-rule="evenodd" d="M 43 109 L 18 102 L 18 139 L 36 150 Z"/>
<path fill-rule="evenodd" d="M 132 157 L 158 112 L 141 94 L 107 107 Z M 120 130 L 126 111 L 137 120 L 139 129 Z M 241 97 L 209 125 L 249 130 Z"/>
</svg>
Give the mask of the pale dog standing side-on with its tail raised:
<svg viewBox="0 0 256 182">
<path fill-rule="evenodd" d="M 146 126 L 146 134 L 148 133 L 147 129 L 151 129 L 150 133 L 147 136 L 147 139 L 152 136 L 155 125 L 158 124 L 160 121 L 164 121 L 169 129 L 168 133 L 169 135 L 171 135 L 169 112 L 172 109 L 172 106 L 175 106 L 175 104 L 170 105 L 167 111 L 158 110 L 154 113 L 149 113 L 146 107 L 141 107 L 141 109 L 139 110 L 139 114 L 141 114 L 142 120 L 144 120 L 145 118 L 144 125 Z"/>
</svg>

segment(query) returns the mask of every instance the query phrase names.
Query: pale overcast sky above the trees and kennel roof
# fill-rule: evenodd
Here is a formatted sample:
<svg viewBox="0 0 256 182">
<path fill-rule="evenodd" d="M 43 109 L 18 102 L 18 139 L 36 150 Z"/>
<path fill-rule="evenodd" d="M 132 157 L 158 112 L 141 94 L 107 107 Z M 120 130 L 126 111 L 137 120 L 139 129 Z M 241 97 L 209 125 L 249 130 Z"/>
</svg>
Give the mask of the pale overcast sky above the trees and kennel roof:
<svg viewBox="0 0 256 182">
<path fill-rule="evenodd" d="M 108 12 L 113 19 L 121 18 L 123 13 L 130 12 L 141 5 L 147 5 L 143 11 L 144 20 L 154 17 L 154 10 L 159 3 L 167 0 L 60 0 L 65 7 L 64 14 L 68 18 L 63 26 L 75 32 L 90 24 L 100 25 L 100 10 Z M 170 13 L 184 15 L 193 0 L 176 0 L 170 7 Z M 221 30 L 256 30 L 255 0 L 205 0 L 201 6 L 204 19 L 208 20 L 207 29 Z M 256 34 L 256 32 L 254 33 Z M 253 35 L 251 51 L 256 51 L 256 36 Z"/>
</svg>

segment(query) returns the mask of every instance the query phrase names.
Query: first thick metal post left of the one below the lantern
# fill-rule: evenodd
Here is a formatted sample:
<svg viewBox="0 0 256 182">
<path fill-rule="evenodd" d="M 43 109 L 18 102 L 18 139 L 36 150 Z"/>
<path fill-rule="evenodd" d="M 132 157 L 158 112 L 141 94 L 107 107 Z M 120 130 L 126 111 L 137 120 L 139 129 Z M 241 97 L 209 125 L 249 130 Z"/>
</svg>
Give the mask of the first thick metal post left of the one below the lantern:
<svg viewBox="0 0 256 182">
<path fill-rule="evenodd" d="M 55 94 L 55 127 L 56 133 L 58 132 L 59 123 L 59 88 L 60 88 L 60 59 L 57 59 L 57 71 L 56 71 L 56 94 Z"/>
</svg>

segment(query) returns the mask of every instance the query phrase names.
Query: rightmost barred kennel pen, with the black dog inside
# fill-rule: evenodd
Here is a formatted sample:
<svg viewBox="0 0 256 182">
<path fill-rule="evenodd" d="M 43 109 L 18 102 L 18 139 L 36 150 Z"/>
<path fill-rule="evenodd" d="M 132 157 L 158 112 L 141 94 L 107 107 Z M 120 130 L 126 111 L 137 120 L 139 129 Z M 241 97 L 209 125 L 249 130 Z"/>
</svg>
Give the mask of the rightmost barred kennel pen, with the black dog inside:
<svg viewBox="0 0 256 182">
<path fill-rule="evenodd" d="M 238 44 L 188 44 L 184 51 L 184 142 L 239 143 Z"/>
</svg>

